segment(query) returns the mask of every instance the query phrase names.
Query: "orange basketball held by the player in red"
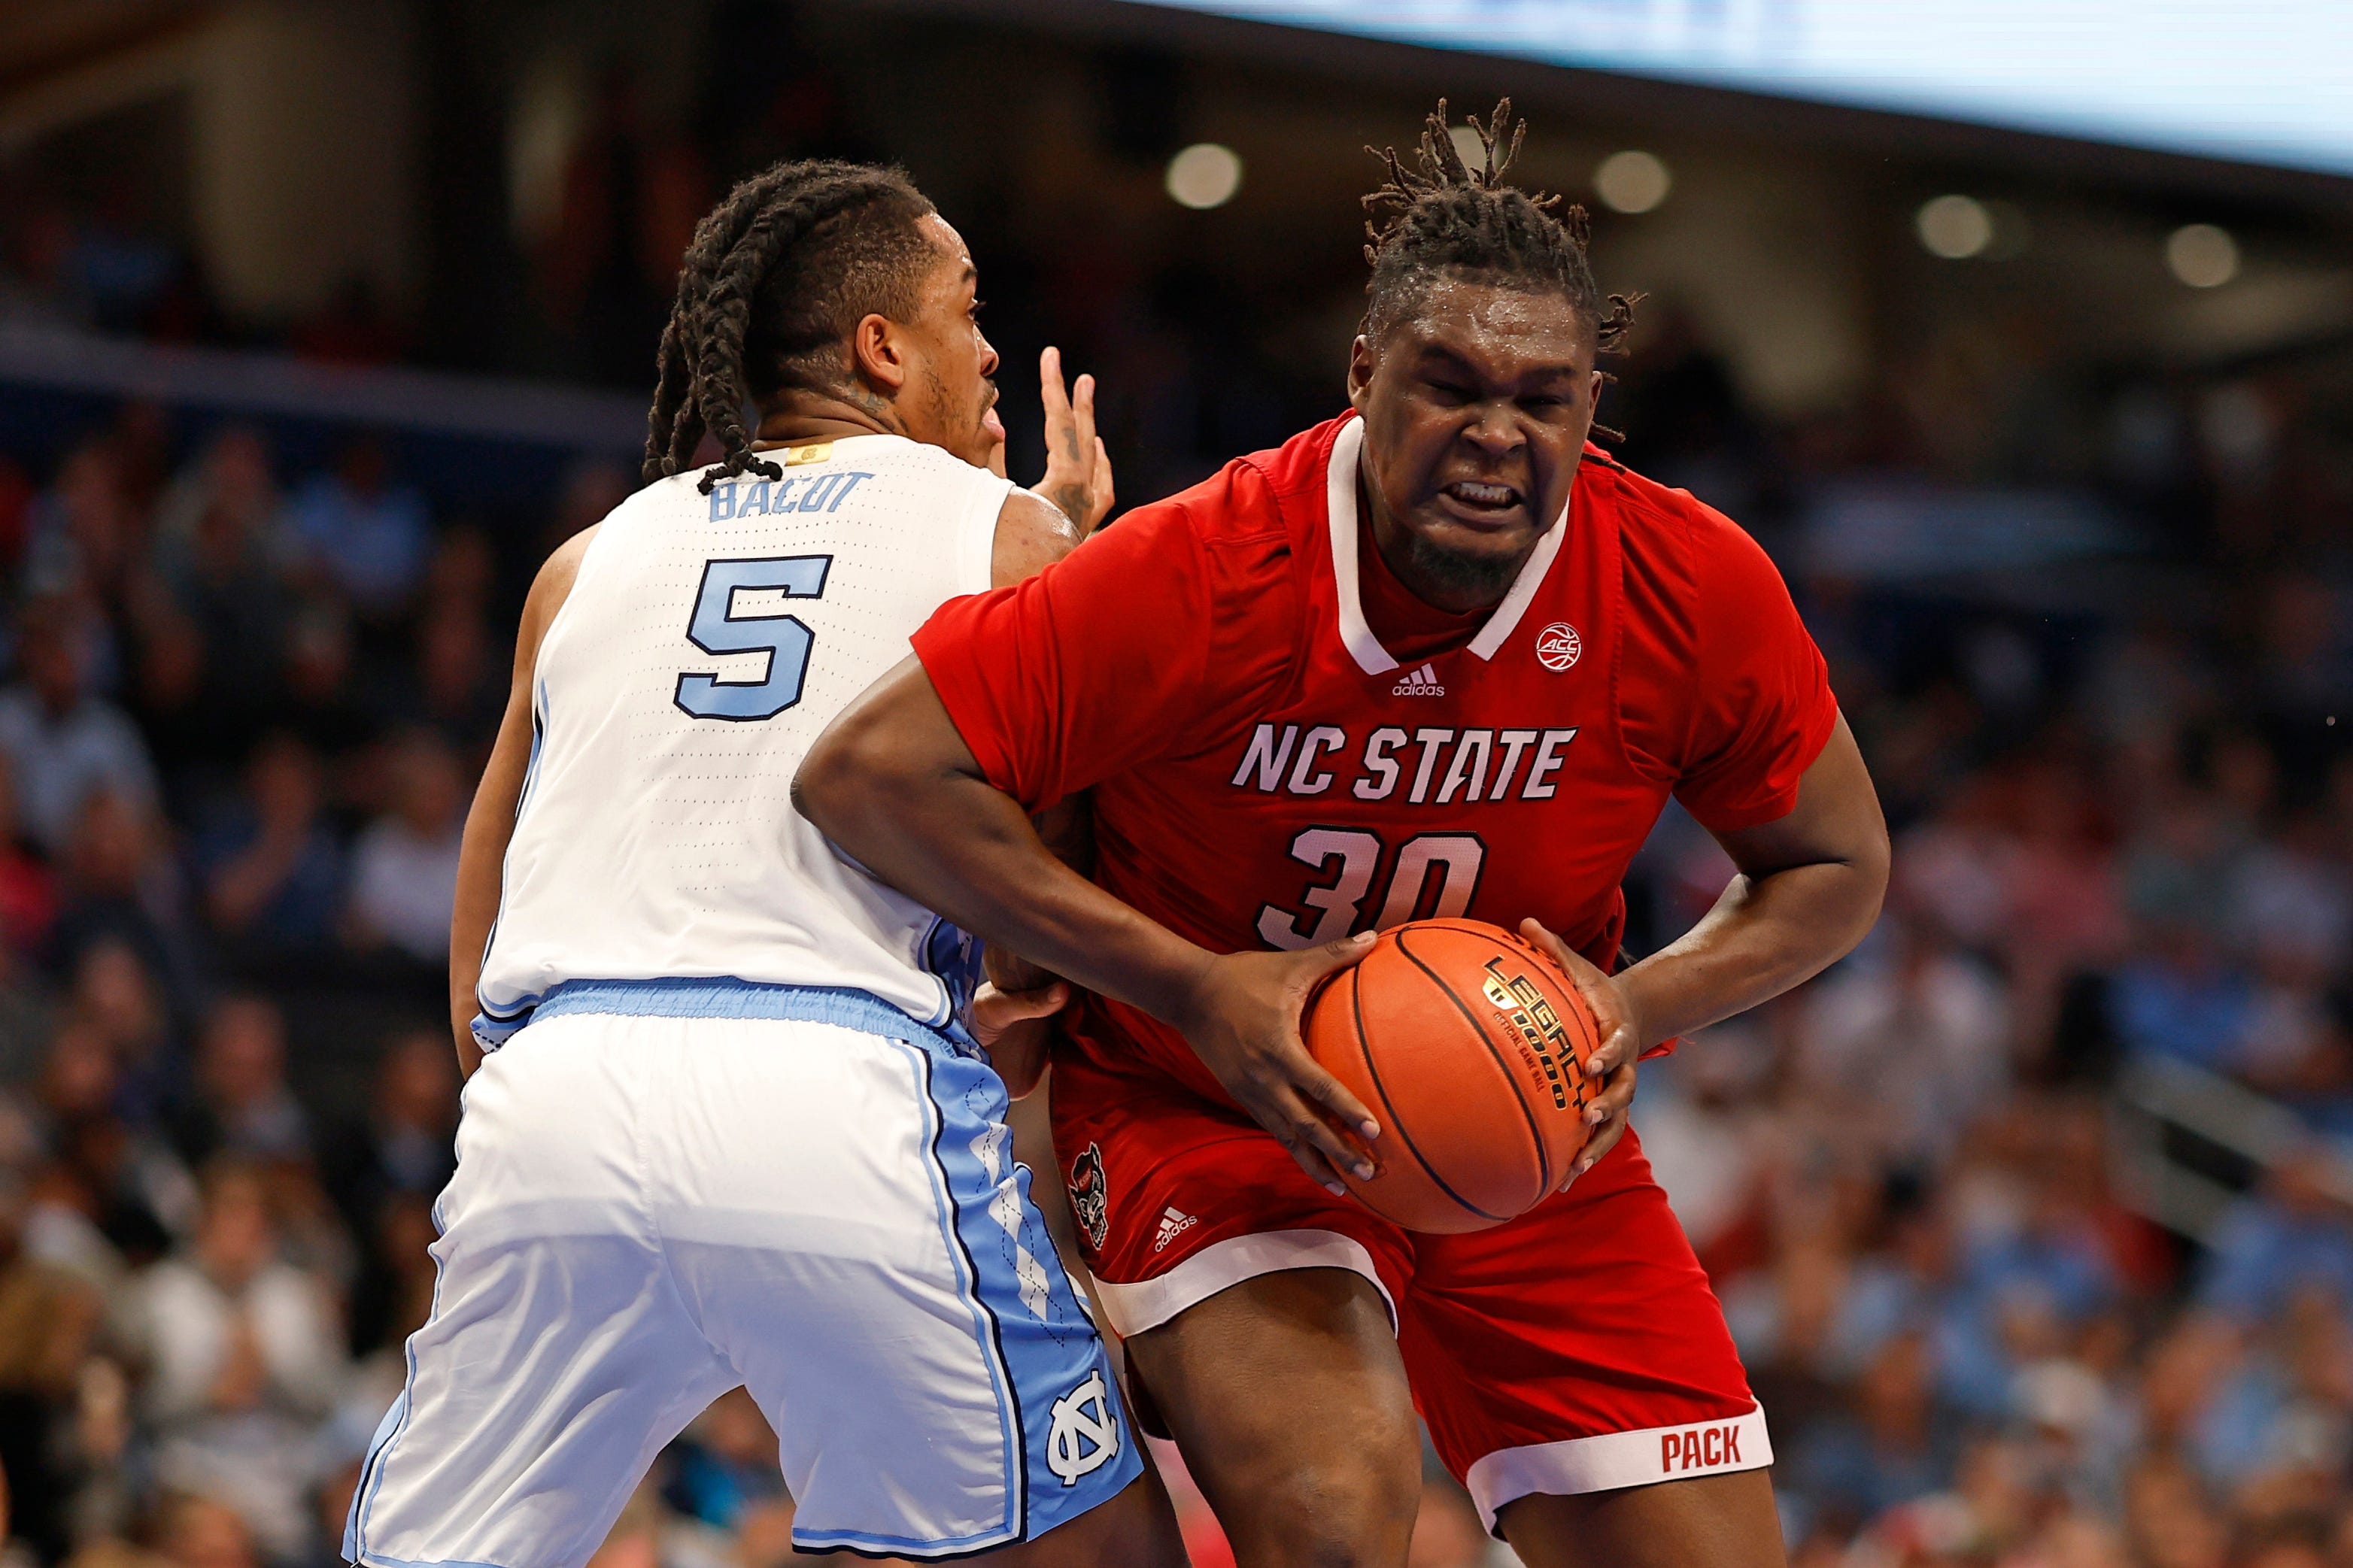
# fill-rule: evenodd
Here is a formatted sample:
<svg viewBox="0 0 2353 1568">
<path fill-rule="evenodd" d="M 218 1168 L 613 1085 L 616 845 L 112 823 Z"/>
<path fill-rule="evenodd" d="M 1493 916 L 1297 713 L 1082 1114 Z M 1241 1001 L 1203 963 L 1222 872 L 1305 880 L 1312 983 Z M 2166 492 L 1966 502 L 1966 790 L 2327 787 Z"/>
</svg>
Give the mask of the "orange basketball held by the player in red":
<svg viewBox="0 0 2353 1568">
<path fill-rule="evenodd" d="M 1475 919 L 1417 919 L 1325 985 L 1306 1046 L 1381 1124 L 1381 1173 L 1341 1180 L 1407 1229 L 1487 1229 L 1586 1147 L 1593 1009 L 1548 957 Z"/>
</svg>

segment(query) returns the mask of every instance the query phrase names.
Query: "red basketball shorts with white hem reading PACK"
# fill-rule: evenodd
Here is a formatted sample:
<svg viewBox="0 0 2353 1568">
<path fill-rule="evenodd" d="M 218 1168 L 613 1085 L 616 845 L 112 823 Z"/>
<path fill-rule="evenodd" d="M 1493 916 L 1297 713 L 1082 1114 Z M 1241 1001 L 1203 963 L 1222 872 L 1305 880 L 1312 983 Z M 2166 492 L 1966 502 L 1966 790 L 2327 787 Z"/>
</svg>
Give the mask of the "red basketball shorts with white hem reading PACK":
<svg viewBox="0 0 2353 1568">
<path fill-rule="evenodd" d="M 1466 1237 L 1337 1199 L 1240 1112 L 1151 1074 L 1054 1063 L 1054 1147 L 1122 1335 L 1280 1269 L 1353 1269 L 1388 1300 L 1414 1406 L 1480 1519 L 1772 1465 L 1722 1307 L 1642 1147 Z"/>
</svg>

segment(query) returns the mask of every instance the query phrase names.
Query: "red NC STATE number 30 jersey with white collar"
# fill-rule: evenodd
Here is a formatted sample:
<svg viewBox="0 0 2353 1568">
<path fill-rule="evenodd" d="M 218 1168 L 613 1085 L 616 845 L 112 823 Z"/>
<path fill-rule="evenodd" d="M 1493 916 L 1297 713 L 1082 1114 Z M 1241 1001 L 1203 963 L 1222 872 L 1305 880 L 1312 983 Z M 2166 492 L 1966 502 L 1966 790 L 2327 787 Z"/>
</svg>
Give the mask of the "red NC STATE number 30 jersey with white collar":
<svg viewBox="0 0 2353 1568">
<path fill-rule="evenodd" d="M 1096 882 L 1205 947 L 1534 914 L 1609 966 L 1668 795 L 1720 832 L 1795 804 L 1838 717 L 1821 654 L 1755 541 L 1588 447 L 1504 602 L 1400 661 L 1365 618 L 1362 440 L 1238 458 L 948 602 L 915 654 L 988 780 L 1031 811 L 1094 790 Z M 1071 1037 L 1224 1098 L 1129 1006 L 1087 997 Z"/>
</svg>

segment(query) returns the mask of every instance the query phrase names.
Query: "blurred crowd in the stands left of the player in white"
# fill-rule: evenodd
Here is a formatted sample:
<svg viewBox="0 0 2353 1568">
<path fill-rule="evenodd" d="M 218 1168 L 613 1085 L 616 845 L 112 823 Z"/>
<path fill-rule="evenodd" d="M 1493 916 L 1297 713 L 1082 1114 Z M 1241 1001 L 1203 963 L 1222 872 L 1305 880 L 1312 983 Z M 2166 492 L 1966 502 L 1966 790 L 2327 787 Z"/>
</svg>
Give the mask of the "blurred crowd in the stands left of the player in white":
<svg viewBox="0 0 2353 1568">
<path fill-rule="evenodd" d="M 0 468 L 0 1465 L 33 1561 L 336 1561 L 433 1298 L 449 900 L 515 611 L 393 463 L 351 433 L 292 475 L 132 404 Z M 584 468 L 551 522 L 626 484 Z"/>
</svg>

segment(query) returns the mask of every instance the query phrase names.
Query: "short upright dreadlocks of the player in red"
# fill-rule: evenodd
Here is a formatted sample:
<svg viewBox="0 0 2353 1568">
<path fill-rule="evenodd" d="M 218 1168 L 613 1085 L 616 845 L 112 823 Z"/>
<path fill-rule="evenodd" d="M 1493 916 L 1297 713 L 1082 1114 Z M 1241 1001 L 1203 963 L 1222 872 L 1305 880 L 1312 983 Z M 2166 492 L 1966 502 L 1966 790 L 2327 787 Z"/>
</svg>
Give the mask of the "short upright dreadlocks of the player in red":
<svg viewBox="0 0 2353 1568">
<path fill-rule="evenodd" d="M 1445 99 L 1438 99 L 1438 113 L 1421 125 L 1421 155 L 1412 169 L 1398 158 L 1398 148 L 1365 148 L 1388 165 L 1388 183 L 1365 197 L 1374 214 L 1365 223 L 1372 240 L 1365 247 L 1365 261 L 1372 263 L 1365 336 L 1379 343 L 1381 334 L 1421 303 L 1433 282 L 1471 277 L 1567 296 L 1593 322 L 1600 350 L 1617 353 L 1642 296 L 1602 299 L 1586 261 L 1586 209 L 1504 183 L 1504 169 L 1527 136 L 1527 122 L 1511 118 L 1511 99 L 1494 106 L 1487 125 L 1471 120 L 1471 129 L 1482 150 L 1478 167 L 1464 162 L 1447 134 Z"/>
</svg>

